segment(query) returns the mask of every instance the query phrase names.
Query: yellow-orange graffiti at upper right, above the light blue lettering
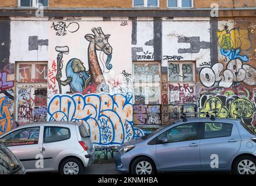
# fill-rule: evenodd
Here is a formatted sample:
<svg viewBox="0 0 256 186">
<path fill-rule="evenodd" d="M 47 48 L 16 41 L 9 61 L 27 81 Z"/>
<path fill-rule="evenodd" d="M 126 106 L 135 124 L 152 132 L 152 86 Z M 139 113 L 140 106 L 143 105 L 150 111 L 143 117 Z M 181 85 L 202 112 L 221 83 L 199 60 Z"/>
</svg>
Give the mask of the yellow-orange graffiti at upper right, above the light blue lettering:
<svg viewBox="0 0 256 186">
<path fill-rule="evenodd" d="M 217 31 L 218 44 L 225 50 L 237 49 L 247 50 L 251 48 L 248 30 L 233 28 L 232 30 Z"/>
</svg>

